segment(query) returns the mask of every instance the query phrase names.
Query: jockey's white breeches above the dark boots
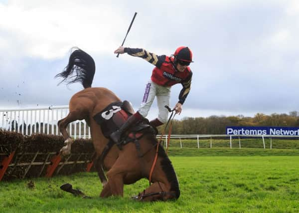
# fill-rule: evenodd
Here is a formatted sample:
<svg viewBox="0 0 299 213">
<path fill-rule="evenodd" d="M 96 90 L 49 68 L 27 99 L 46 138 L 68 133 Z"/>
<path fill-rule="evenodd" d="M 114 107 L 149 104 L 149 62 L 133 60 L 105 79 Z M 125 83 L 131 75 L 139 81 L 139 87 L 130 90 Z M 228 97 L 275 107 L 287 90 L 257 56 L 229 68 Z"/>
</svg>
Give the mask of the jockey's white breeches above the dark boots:
<svg viewBox="0 0 299 213">
<path fill-rule="evenodd" d="M 170 104 L 170 88 L 171 87 L 157 85 L 149 80 L 138 112 L 143 117 L 146 117 L 149 113 L 149 109 L 154 100 L 154 97 L 156 96 L 159 110 L 158 120 L 162 123 L 166 123 L 168 118 L 168 110 L 164 106 L 169 106 Z"/>
</svg>

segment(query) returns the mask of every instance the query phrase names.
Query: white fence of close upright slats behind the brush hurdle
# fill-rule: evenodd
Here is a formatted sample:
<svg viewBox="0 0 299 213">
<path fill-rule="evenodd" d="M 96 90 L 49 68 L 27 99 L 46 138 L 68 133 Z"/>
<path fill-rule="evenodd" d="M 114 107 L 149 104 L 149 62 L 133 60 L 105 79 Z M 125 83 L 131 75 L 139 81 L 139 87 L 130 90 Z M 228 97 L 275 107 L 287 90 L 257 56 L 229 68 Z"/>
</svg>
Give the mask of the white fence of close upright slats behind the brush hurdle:
<svg viewBox="0 0 299 213">
<path fill-rule="evenodd" d="M 57 122 L 68 113 L 68 106 L 0 109 L 0 128 L 23 135 L 60 135 Z M 72 122 L 67 130 L 73 138 L 90 138 L 90 129 L 84 120 Z"/>
</svg>

